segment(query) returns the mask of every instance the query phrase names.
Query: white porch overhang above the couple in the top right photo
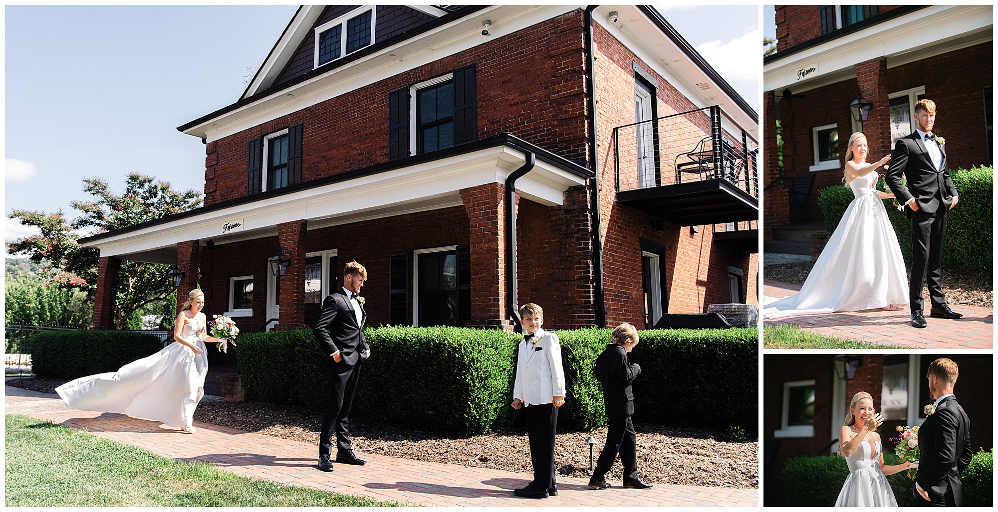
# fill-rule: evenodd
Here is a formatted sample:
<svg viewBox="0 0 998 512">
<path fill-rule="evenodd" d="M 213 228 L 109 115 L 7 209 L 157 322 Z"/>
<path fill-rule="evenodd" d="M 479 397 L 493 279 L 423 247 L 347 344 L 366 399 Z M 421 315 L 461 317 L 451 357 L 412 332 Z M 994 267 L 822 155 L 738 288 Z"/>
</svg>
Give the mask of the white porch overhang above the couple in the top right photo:
<svg viewBox="0 0 998 512">
<path fill-rule="evenodd" d="M 881 16 L 765 58 L 765 90 L 803 93 L 854 78 L 856 63 L 886 57 L 894 68 L 994 39 L 990 5 L 902 6 Z"/>
</svg>

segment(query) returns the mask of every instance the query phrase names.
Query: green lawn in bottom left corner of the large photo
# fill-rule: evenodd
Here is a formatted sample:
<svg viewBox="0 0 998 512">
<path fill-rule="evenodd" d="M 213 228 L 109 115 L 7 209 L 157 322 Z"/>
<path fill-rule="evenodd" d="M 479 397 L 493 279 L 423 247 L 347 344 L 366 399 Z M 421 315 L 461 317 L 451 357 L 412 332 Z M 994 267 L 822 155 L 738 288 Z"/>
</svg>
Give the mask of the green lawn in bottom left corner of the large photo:
<svg viewBox="0 0 998 512">
<path fill-rule="evenodd" d="M 29 416 L 5 422 L 8 507 L 399 506 L 161 457 Z"/>
</svg>

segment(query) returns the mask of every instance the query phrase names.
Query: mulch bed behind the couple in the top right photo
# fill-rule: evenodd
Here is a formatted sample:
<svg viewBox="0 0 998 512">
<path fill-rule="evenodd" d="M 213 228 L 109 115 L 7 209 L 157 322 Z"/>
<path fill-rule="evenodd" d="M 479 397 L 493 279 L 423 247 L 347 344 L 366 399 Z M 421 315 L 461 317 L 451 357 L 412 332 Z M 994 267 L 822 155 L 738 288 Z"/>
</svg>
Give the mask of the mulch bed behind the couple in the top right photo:
<svg viewBox="0 0 998 512">
<path fill-rule="evenodd" d="M 780 263 L 765 265 L 762 271 L 767 280 L 802 285 L 813 266 L 812 261 Z M 989 273 L 965 269 L 942 269 L 942 290 L 946 294 L 946 302 L 951 306 L 991 308 L 994 305 L 992 276 Z M 925 298 L 925 304 L 928 304 L 928 288 L 922 289 L 922 296 Z"/>
</svg>

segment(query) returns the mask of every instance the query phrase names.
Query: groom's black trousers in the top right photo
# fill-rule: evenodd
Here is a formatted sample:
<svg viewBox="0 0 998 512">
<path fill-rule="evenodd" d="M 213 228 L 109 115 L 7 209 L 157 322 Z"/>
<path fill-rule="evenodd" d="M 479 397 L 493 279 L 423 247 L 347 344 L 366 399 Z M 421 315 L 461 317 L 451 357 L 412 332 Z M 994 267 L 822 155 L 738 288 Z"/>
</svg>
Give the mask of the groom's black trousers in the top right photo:
<svg viewBox="0 0 998 512">
<path fill-rule="evenodd" d="M 940 201 L 941 203 L 941 201 Z M 946 234 L 946 205 L 940 204 L 935 213 L 911 212 L 911 281 L 908 300 L 911 311 L 922 311 L 922 282 L 927 278 L 932 306 L 946 302 L 942 293 L 942 239 Z M 924 501 L 924 500 L 923 500 Z"/>
</svg>

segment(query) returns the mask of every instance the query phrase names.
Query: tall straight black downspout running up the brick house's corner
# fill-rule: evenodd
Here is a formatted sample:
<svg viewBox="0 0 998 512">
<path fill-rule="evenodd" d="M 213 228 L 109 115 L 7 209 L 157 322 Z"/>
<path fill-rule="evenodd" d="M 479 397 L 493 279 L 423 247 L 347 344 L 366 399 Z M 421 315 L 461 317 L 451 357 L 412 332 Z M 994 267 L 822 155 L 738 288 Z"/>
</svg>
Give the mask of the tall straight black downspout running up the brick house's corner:
<svg viewBox="0 0 998 512">
<path fill-rule="evenodd" d="M 591 212 L 593 216 L 593 261 L 596 262 L 594 270 L 595 297 L 593 304 L 596 307 L 596 327 L 607 327 L 607 309 L 604 303 L 603 289 L 603 243 L 600 236 L 600 165 L 597 160 L 599 150 L 596 147 L 596 84 L 594 69 L 596 58 L 593 55 L 593 10 L 598 5 L 586 7 L 586 95 L 589 97 L 589 162 L 592 165 L 593 180 L 589 189 Z"/>
</svg>

